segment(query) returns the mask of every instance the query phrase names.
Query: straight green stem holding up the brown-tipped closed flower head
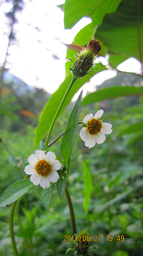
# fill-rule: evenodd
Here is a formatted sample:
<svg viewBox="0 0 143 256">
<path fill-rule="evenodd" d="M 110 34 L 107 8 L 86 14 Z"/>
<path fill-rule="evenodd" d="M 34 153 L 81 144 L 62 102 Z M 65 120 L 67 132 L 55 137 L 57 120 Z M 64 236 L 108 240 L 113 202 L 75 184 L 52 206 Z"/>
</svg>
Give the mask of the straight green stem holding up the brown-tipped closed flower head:
<svg viewBox="0 0 143 256">
<path fill-rule="evenodd" d="M 59 113 L 60 113 L 60 110 L 61 110 L 61 108 L 62 108 L 62 105 L 64 104 L 64 101 L 65 101 L 65 99 L 67 98 L 67 95 L 68 95 L 70 89 L 72 88 L 73 84 L 75 83 L 75 80 L 76 80 L 76 79 L 77 79 L 77 78 L 75 78 L 74 76 L 72 77 L 72 80 L 71 80 L 71 82 L 70 82 L 70 84 L 69 84 L 69 86 L 68 86 L 68 89 L 67 89 L 67 91 L 66 91 L 66 93 L 65 93 L 65 95 L 64 95 L 64 97 L 63 97 L 63 99 L 62 99 L 62 101 L 61 101 L 61 103 L 60 103 L 60 106 L 59 106 L 59 108 L 58 108 L 58 110 L 57 110 L 57 112 L 56 112 L 56 114 L 55 114 L 55 116 L 54 116 L 54 119 L 53 119 L 53 121 L 52 121 L 52 124 L 51 124 L 51 126 L 50 126 L 50 129 L 49 129 L 49 132 L 48 132 L 48 135 L 47 135 L 47 138 L 46 138 L 46 142 L 45 142 L 45 146 L 46 146 L 46 147 L 47 147 L 47 145 L 48 145 L 48 141 L 49 141 L 51 132 L 52 132 L 52 130 L 53 130 L 55 121 L 56 121 L 56 119 L 57 119 L 57 117 L 58 117 L 58 115 L 59 115 Z"/>
</svg>

